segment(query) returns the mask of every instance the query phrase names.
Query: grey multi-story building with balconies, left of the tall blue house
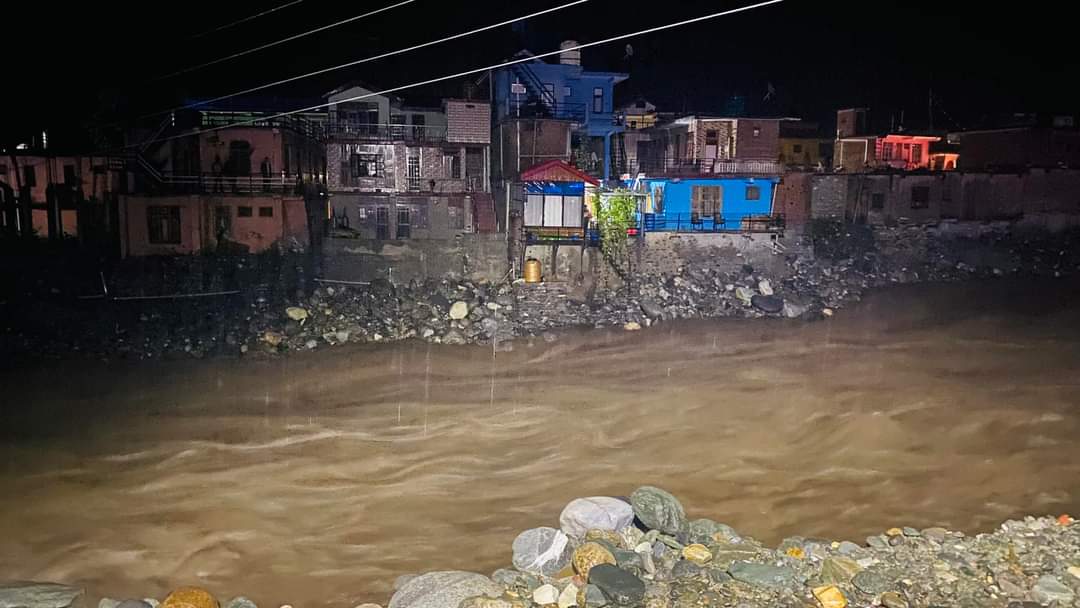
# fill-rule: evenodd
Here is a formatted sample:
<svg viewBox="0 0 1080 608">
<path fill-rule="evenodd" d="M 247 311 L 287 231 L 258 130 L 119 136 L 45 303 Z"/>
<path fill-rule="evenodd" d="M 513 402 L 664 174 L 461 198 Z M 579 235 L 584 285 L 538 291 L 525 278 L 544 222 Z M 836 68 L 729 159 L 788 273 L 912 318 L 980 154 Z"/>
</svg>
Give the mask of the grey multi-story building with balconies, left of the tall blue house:
<svg viewBox="0 0 1080 608">
<path fill-rule="evenodd" d="M 335 230 L 376 240 L 495 230 L 487 103 L 410 107 L 361 84 L 330 92 L 327 102 Z"/>
</svg>

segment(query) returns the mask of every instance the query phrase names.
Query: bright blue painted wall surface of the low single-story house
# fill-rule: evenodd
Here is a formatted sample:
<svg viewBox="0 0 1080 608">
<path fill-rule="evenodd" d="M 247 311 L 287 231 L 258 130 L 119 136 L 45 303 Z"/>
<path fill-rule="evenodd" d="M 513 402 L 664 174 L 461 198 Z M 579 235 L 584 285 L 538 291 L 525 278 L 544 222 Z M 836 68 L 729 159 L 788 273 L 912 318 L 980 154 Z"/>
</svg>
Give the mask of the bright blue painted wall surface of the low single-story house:
<svg viewBox="0 0 1080 608">
<path fill-rule="evenodd" d="M 691 202 L 693 200 L 694 186 L 720 186 L 723 192 L 723 207 L 720 214 L 724 217 L 724 226 L 717 227 L 721 230 L 738 230 L 742 225 L 742 219 L 747 215 L 766 215 L 772 213 L 772 192 L 780 180 L 775 177 L 700 177 L 673 179 L 666 177 L 644 179 L 647 192 L 653 192 L 657 187 L 663 189 L 663 210 L 657 213 L 666 218 L 666 230 L 675 230 L 675 218 L 680 217 L 684 229 L 687 228 L 690 217 Z M 760 198 L 756 201 L 746 200 L 746 187 L 757 186 Z M 712 230 L 713 218 L 702 218 L 702 229 Z"/>
</svg>

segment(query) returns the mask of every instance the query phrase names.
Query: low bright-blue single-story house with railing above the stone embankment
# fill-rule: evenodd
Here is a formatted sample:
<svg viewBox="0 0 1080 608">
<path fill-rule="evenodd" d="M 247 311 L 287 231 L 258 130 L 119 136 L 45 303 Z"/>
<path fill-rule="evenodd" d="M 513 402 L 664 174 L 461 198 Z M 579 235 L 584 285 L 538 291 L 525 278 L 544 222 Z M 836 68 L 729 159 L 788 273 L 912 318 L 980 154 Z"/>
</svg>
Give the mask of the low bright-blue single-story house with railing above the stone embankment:
<svg viewBox="0 0 1080 608">
<path fill-rule="evenodd" d="M 647 177 L 646 231 L 772 232 L 783 220 L 772 215 L 779 177 Z"/>
</svg>

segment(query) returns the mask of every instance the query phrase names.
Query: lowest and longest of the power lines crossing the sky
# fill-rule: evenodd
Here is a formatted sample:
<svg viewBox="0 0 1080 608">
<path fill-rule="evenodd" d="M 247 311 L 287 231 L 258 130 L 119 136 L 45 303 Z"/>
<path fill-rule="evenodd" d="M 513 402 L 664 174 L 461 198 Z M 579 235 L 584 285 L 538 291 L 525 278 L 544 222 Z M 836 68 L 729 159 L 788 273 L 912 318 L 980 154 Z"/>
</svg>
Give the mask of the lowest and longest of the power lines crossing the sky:
<svg viewBox="0 0 1080 608">
<path fill-rule="evenodd" d="M 141 146 L 141 145 L 147 145 L 147 144 L 157 144 L 159 141 L 168 141 L 168 140 L 172 140 L 172 139 L 179 139 L 181 137 L 190 137 L 192 135 L 199 135 L 199 134 L 202 134 L 202 133 L 214 133 L 214 132 L 217 132 L 217 131 L 222 131 L 225 129 L 233 129 L 233 127 L 237 127 L 237 126 L 246 126 L 248 124 L 252 124 L 252 123 L 255 123 L 255 122 L 259 122 L 259 121 L 267 121 L 267 120 L 273 120 L 273 119 L 278 119 L 278 118 L 284 118 L 284 117 L 288 117 L 288 116 L 293 116 L 293 114 L 298 114 L 298 113 L 301 113 L 301 112 L 310 112 L 310 111 L 313 111 L 313 110 L 318 110 L 318 109 L 322 109 L 322 108 L 327 108 L 329 106 L 334 106 L 334 105 L 337 105 L 337 104 L 347 104 L 349 102 L 356 102 L 356 100 L 360 100 L 360 99 L 367 99 L 369 97 L 380 97 L 380 96 L 383 96 L 383 95 L 389 95 L 391 93 L 396 93 L 399 91 L 405 91 L 406 89 L 416 89 L 418 86 L 427 86 L 429 84 L 435 84 L 437 82 L 445 82 L 447 80 L 455 80 L 455 79 L 463 78 L 463 77 L 467 77 L 467 76 L 473 76 L 473 75 L 476 75 L 476 73 L 483 73 L 485 71 L 501 69 L 501 68 L 505 68 L 505 67 L 517 65 L 517 64 L 524 64 L 526 62 L 531 62 L 531 60 L 535 60 L 535 59 L 542 59 L 544 57 L 551 57 L 553 55 L 562 55 L 563 53 L 566 53 L 568 51 L 580 51 L 582 49 L 588 49 L 590 46 L 598 46 L 600 44 L 607 44 L 607 43 L 610 43 L 610 42 L 618 42 L 619 40 L 625 40 L 627 38 L 634 38 L 636 36 L 644 36 L 644 35 L 647 35 L 647 33 L 653 33 L 653 32 L 657 32 L 657 31 L 665 30 L 665 29 L 672 29 L 672 28 L 675 28 L 675 27 L 681 27 L 681 26 L 686 26 L 686 25 L 690 25 L 690 24 L 696 24 L 696 23 L 708 21 L 708 19 L 715 19 L 715 18 L 718 18 L 718 17 L 725 17 L 725 16 L 728 16 L 728 15 L 733 15 L 735 13 L 744 13 L 746 11 L 752 11 L 754 9 L 760 9 L 760 8 L 764 8 L 764 6 L 768 6 L 770 4 L 779 4 L 779 3 L 783 2 L 783 1 L 784 0 L 765 0 L 764 2 L 757 2 L 755 4 L 747 4 L 745 6 L 739 6 L 737 9 L 729 9 L 727 11 L 719 11 L 717 13 L 710 13 L 707 15 L 702 15 L 700 17 L 693 17 L 693 18 L 684 19 L 684 21 L 680 21 L 680 22 L 670 23 L 670 24 L 666 24 L 666 25 L 661 25 L 661 26 L 657 26 L 657 27 L 650 27 L 650 28 L 642 29 L 642 30 L 634 31 L 634 32 L 631 32 L 631 33 L 621 33 L 619 36 L 612 36 L 611 38 L 605 38 L 603 40 L 597 40 L 595 42 L 585 42 L 583 44 L 575 44 L 573 46 L 568 46 L 566 49 L 559 49 L 558 51 L 549 51 L 546 53 L 540 53 L 539 55 L 530 55 L 530 56 L 522 57 L 522 58 L 518 58 L 518 59 L 511 59 L 509 62 L 502 62 L 500 64 L 492 64 L 490 66 L 485 66 L 483 68 L 474 68 L 474 69 L 470 69 L 470 70 L 465 70 L 465 71 L 459 71 L 457 73 L 451 73 L 451 75 L 448 75 L 448 76 L 440 76 L 440 77 L 436 77 L 436 78 L 430 78 L 428 80 L 421 80 L 419 82 L 414 82 L 414 83 L 410 83 L 410 84 L 402 84 L 401 86 L 394 86 L 392 89 L 384 89 L 382 91 L 378 91 L 378 92 L 375 92 L 375 93 L 365 93 L 364 95 L 356 95 L 354 97 L 347 97 L 345 99 L 337 99 L 335 102 L 328 102 L 326 104 L 319 104 L 319 105 L 315 105 L 315 106 L 309 106 L 307 108 L 299 108 L 299 109 L 296 109 L 296 110 L 289 110 L 287 112 L 281 112 L 281 113 L 273 114 L 273 116 L 270 116 L 270 117 L 257 117 L 257 118 L 253 118 L 251 120 L 244 120 L 244 121 L 234 122 L 234 123 L 230 123 L 230 124 L 222 124 L 220 126 L 214 126 L 214 127 L 211 127 L 211 129 L 202 129 L 202 130 L 198 130 L 198 131 L 194 131 L 194 132 L 191 132 L 191 133 L 184 133 L 184 134 L 179 134 L 179 135 L 171 135 L 168 137 L 160 137 L 158 139 L 151 139 L 149 141 L 143 141 L 141 144 L 138 144 L 138 145 Z M 134 146 L 126 146 L 126 147 L 131 148 L 131 147 L 134 147 Z"/>
</svg>

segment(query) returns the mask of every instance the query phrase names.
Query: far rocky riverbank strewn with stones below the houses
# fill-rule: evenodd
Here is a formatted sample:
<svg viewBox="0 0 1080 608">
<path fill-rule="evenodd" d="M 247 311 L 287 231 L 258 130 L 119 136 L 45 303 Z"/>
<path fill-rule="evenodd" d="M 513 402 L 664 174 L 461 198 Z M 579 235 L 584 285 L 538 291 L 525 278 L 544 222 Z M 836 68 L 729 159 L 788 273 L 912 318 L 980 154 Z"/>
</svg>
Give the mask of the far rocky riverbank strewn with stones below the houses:
<svg viewBox="0 0 1080 608">
<path fill-rule="evenodd" d="M 255 287 L 201 299 L 14 298 L 0 302 L 6 324 L 0 347 L 10 354 L 105 359 L 278 355 L 403 339 L 511 349 L 521 343 L 515 338 L 556 339 L 552 330 L 559 327 L 815 319 L 890 284 L 1066 276 L 1080 269 L 1077 233 L 1016 234 L 1008 225 L 986 225 L 955 237 L 946 226 L 870 230 L 841 224 L 810 232 L 815 255 L 778 254 L 783 264 L 771 270 L 724 260 L 635 273 L 617 288 L 591 276 L 535 285 L 448 276 L 397 285 L 323 283 L 307 296 Z"/>
</svg>

